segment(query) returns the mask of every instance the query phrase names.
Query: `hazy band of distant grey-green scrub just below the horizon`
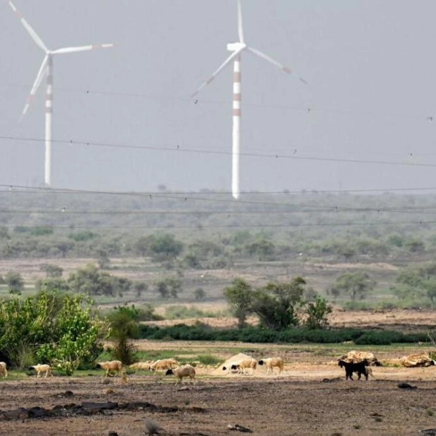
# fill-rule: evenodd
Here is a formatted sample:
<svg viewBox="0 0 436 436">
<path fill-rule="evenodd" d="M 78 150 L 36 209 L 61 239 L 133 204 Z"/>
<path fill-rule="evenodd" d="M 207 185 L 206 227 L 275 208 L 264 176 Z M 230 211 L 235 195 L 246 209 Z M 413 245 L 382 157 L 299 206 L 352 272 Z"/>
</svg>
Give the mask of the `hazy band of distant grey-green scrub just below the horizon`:
<svg viewBox="0 0 436 436">
<path fill-rule="evenodd" d="M 435 195 L 0 191 L 0 257 L 150 257 L 194 269 L 436 252 Z"/>
</svg>

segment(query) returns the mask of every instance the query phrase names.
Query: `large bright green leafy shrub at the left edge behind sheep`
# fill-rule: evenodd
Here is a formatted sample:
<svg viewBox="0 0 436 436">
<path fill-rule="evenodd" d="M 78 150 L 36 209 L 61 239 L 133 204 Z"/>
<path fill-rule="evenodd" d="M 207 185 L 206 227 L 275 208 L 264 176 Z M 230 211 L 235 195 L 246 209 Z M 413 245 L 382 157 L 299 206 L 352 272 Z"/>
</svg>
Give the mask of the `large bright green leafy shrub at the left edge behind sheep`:
<svg viewBox="0 0 436 436">
<path fill-rule="evenodd" d="M 23 367 L 32 359 L 70 375 L 103 349 L 107 329 L 91 307 L 82 295 L 58 297 L 44 291 L 24 300 L 2 300 L 0 355 L 12 366 Z"/>
</svg>

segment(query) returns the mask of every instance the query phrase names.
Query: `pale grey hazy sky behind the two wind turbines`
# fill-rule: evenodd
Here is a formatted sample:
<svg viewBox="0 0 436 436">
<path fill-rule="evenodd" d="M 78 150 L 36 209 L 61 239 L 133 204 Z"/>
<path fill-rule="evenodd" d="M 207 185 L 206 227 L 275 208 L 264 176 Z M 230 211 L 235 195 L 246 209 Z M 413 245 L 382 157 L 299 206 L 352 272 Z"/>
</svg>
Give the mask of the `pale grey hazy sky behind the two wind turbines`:
<svg viewBox="0 0 436 436">
<path fill-rule="evenodd" d="M 189 96 L 229 56 L 236 0 L 14 3 L 51 49 L 117 44 L 54 59 L 53 139 L 101 146 L 54 143 L 53 187 L 230 190 L 231 67 Z M 246 42 L 309 85 L 243 55 L 241 190 L 436 187 L 435 16 L 434 0 L 243 0 Z M 0 36 L 0 136 L 44 139 L 44 82 L 19 122 L 44 53 L 6 1 Z M 0 184 L 41 184 L 43 141 L 0 150 Z"/>
</svg>

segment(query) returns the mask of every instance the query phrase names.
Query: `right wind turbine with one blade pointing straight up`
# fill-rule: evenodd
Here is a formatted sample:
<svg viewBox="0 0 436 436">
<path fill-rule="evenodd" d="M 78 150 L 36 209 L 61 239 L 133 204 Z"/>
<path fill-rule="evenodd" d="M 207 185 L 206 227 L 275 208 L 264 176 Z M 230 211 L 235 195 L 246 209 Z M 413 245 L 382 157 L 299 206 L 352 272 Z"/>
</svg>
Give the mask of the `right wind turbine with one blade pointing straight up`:
<svg viewBox="0 0 436 436">
<path fill-rule="evenodd" d="M 262 53 L 257 49 L 245 44 L 243 22 L 242 22 L 242 6 L 241 0 L 238 1 L 238 42 L 233 42 L 227 44 L 227 51 L 231 51 L 231 55 L 226 61 L 212 74 L 212 76 L 204 82 L 197 91 L 192 94 L 191 98 L 196 96 L 206 85 L 210 84 L 212 80 L 219 75 L 224 68 L 226 68 L 229 63 L 233 60 L 233 146 L 232 146 L 232 171 L 231 171 L 231 193 L 233 198 L 239 198 L 239 154 L 241 152 L 241 56 L 243 51 L 249 51 L 258 58 L 267 60 L 276 67 L 280 68 L 284 72 L 297 77 L 301 82 L 307 84 L 307 82 L 300 76 L 296 75 L 295 72 L 290 70 L 290 68 L 278 63 L 273 58 L 270 58 L 266 54 Z"/>
</svg>

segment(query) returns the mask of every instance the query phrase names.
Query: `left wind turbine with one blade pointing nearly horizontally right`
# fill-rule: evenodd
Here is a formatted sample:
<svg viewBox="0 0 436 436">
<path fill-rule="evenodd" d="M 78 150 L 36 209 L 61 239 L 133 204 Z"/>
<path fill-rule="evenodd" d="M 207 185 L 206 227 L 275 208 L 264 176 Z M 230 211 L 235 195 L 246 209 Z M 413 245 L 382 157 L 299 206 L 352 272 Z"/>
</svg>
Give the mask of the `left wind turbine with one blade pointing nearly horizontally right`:
<svg viewBox="0 0 436 436">
<path fill-rule="evenodd" d="M 34 95 L 36 94 L 44 75 L 46 75 L 46 135 L 45 135 L 46 153 L 45 153 L 44 181 L 46 186 L 51 186 L 51 121 L 53 117 L 53 56 L 58 54 L 75 53 L 77 51 L 108 49 L 110 47 L 113 47 L 114 44 L 67 47 L 65 49 L 49 50 L 47 49 L 46 44 L 44 44 L 42 39 L 37 35 L 37 32 L 35 32 L 32 26 L 30 26 L 30 24 L 27 23 L 25 18 L 23 18 L 23 15 L 21 15 L 20 11 L 18 11 L 18 9 L 15 8 L 12 1 L 9 1 L 9 5 L 11 6 L 12 10 L 15 12 L 15 15 L 17 15 L 18 18 L 20 19 L 21 24 L 24 26 L 25 30 L 27 30 L 27 32 L 30 34 L 30 37 L 32 37 L 32 39 L 35 41 L 37 46 L 39 46 L 42 50 L 44 50 L 44 53 L 46 53 L 46 56 L 44 57 L 44 60 L 41 63 L 41 67 L 39 67 L 37 78 L 34 81 L 32 89 L 30 90 L 30 95 L 27 98 L 27 102 L 25 104 L 23 114 L 21 115 L 21 117 L 23 117 L 27 113 L 30 103 L 32 103 L 32 100 L 34 99 Z"/>
</svg>

